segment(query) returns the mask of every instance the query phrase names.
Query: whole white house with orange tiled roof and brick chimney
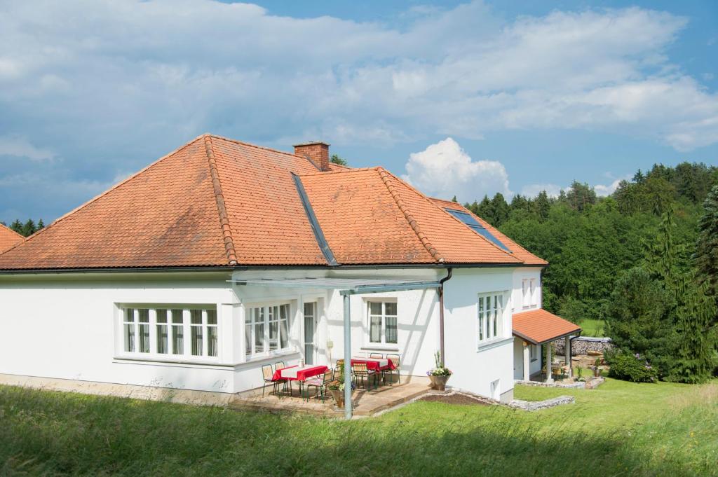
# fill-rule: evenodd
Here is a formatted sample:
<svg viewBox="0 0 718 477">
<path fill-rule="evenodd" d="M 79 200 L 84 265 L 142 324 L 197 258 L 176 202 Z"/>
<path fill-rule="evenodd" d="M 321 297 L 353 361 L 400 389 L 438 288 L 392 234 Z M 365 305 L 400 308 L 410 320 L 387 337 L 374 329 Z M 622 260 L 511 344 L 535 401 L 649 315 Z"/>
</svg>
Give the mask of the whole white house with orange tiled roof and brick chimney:
<svg viewBox="0 0 718 477">
<path fill-rule="evenodd" d="M 200 136 L 0 255 L 0 382 L 235 393 L 277 359 L 333 365 L 350 336 L 406 377 L 443 348 L 450 384 L 510 400 L 567 334 L 541 310 L 546 265 L 325 143 Z M 519 337 L 512 316 L 531 316 Z"/>
</svg>

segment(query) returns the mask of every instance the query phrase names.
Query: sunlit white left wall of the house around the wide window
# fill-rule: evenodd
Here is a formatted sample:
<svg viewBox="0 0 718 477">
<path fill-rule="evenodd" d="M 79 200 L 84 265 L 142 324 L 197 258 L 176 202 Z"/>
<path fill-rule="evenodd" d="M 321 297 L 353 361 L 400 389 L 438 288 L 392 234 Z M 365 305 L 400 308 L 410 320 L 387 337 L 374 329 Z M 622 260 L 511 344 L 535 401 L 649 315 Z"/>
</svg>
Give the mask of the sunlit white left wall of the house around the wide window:
<svg viewBox="0 0 718 477">
<path fill-rule="evenodd" d="M 0 374 L 232 392 L 231 340 L 220 334 L 217 366 L 132 362 L 122 354 L 117 303 L 181 303 L 217 306 L 223 330 L 236 307 L 227 283 L 64 275 L 0 278 Z M 226 332 L 225 332 L 226 335 Z"/>
</svg>

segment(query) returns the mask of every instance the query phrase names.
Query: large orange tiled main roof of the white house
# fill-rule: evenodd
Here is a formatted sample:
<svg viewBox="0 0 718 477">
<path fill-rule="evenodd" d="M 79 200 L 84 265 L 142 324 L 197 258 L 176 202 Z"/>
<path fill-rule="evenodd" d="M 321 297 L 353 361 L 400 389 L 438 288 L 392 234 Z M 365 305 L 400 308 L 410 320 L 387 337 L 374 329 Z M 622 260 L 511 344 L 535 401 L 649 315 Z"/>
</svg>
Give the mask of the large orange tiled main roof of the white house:
<svg viewBox="0 0 718 477">
<path fill-rule="evenodd" d="M 380 167 L 320 172 L 206 134 L 4 253 L 0 270 L 329 265 L 294 175 L 340 265 L 545 264 L 491 228 L 512 253 L 502 250 Z"/>
</svg>

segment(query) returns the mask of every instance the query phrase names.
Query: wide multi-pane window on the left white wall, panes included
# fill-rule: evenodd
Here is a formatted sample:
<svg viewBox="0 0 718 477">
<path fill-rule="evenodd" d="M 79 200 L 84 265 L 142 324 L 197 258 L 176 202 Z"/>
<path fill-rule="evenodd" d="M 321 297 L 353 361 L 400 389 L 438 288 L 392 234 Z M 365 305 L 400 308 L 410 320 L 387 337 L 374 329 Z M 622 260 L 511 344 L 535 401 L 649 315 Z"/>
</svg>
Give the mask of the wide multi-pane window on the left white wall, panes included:
<svg viewBox="0 0 718 477">
<path fill-rule="evenodd" d="M 122 308 L 122 335 L 126 353 L 219 356 L 216 308 Z"/>
</svg>

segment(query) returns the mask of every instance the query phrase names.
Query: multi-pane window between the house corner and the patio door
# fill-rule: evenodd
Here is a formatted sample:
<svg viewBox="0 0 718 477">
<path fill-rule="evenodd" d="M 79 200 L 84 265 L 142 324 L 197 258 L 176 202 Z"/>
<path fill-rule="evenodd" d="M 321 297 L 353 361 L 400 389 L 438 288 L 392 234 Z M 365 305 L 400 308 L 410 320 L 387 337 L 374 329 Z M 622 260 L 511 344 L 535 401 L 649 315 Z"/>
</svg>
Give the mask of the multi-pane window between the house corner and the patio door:
<svg viewBox="0 0 718 477">
<path fill-rule="evenodd" d="M 248 308 L 244 344 L 247 359 L 289 349 L 289 303 Z"/>
</svg>

